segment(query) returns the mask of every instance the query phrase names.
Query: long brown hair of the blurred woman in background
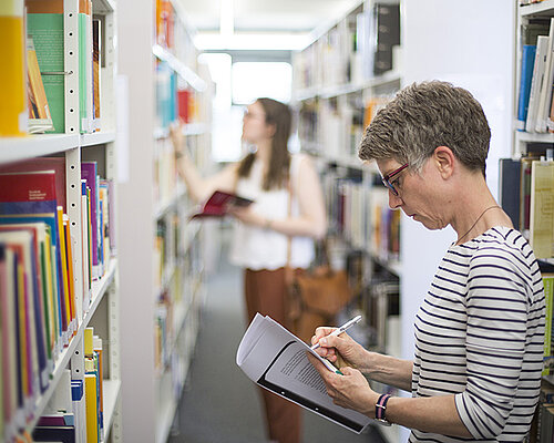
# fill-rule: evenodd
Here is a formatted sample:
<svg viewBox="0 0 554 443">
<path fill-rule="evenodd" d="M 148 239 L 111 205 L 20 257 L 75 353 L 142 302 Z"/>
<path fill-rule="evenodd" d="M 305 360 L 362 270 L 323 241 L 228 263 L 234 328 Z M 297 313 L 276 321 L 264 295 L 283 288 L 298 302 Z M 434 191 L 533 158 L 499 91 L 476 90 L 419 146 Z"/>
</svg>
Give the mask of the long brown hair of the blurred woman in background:
<svg viewBox="0 0 554 443">
<path fill-rule="evenodd" d="M 261 184 L 264 190 L 275 187 L 284 187 L 288 179 L 290 166 L 290 155 L 287 143 L 290 136 L 293 116 L 290 109 L 276 100 L 261 97 L 256 100 L 264 107 L 266 124 L 275 125 L 275 134 L 271 138 L 271 152 L 269 154 L 269 168 L 266 172 Z M 248 154 L 238 165 L 238 177 L 247 177 L 250 174 L 252 165 L 256 154 Z"/>
</svg>

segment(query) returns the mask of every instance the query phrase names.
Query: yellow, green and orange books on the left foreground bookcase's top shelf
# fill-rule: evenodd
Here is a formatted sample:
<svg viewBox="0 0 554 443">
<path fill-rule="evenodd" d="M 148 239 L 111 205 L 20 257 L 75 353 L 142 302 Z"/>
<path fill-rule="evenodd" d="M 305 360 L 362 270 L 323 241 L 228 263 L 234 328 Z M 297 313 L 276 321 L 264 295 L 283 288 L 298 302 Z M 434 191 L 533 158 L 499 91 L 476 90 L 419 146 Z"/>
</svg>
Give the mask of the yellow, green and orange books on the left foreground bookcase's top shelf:
<svg viewBox="0 0 554 443">
<path fill-rule="evenodd" d="M 13 53 L 6 66 L 10 96 L 0 135 L 65 133 L 65 76 L 63 0 L 25 0 L 20 17 L 2 17 L 13 34 Z M 79 131 L 101 130 L 101 66 L 103 22 L 92 13 L 92 1 L 80 0 L 78 17 Z M 23 39 L 24 37 L 24 39 Z M 7 92 L 8 93 L 8 92 Z"/>
</svg>

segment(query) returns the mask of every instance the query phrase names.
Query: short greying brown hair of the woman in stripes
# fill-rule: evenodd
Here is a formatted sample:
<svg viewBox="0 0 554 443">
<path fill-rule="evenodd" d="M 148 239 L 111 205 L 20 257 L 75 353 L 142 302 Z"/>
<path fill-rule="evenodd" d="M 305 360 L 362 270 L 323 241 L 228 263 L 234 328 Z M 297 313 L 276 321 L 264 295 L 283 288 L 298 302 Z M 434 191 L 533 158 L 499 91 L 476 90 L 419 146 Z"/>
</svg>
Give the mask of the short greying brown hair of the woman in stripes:
<svg viewBox="0 0 554 443">
<path fill-rule="evenodd" d="M 450 83 L 412 83 L 377 113 L 361 140 L 362 161 L 397 159 L 420 172 L 438 146 L 469 169 L 485 173 L 491 130 L 473 95 Z"/>
</svg>

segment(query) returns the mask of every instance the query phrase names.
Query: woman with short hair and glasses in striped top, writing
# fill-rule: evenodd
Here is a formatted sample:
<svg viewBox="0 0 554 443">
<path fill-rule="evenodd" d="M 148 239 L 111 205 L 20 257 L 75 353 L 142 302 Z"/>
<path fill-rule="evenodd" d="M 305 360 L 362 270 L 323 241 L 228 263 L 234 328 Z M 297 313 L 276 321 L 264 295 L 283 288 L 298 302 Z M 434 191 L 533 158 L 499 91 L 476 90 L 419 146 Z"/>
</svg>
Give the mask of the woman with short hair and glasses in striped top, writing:
<svg viewBox="0 0 554 443">
<path fill-rule="evenodd" d="M 538 265 L 485 182 L 491 132 L 470 92 L 412 84 L 366 130 L 359 156 L 376 161 L 389 205 L 428 229 L 447 226 L 447 250 L 416 317 L 413 360 L 365 350 L 318 328 L 310 361 L 334 402 L 412 430 L 410 442 L 521 442 L 541 387 L 545 300 Z M 363 375 L 411 391 L 380 395 Z"/>
</svg>

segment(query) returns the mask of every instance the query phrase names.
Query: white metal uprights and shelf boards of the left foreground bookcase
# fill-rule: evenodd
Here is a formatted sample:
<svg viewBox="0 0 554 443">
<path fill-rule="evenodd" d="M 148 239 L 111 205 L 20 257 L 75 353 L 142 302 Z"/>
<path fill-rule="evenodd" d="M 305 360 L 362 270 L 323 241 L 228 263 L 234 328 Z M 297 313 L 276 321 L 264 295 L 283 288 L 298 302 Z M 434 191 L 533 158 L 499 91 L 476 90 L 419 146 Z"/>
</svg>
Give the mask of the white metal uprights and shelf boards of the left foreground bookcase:
<svg viewBox="0 0 554 443">
<path fill-rule="evenodd" d="M 113 40 L 115 29 L 113 27 L 113 16 L 115 13 L 114 0 L 93 0 L 94 13 L 102 18 L 105 23 L 103 33 L 103 49 L 105 53 L 102 69 L 102 100 L 105 101 L 102 107 L 103 123 L 114 126 L 115 100 L 113 99 L 113 76 L 114 76 L 114 53 Z M 76 310 L 78 329 L 69 343 L 60 351 L 53 362 L 53 371 L 50 375 L 47 390 L 39 395 L 32 405 L 32 420 L 25 423 L 25 430 L 30 433 L 37 424 L 41 414 L 48 406 L 50 399 L 59 388 L 64 370 L 71 370 L 73 380 L 82 380 L 84 375 L 84 352 L 83 336 L 88 326 L 107 323 L 107 336 L 102 339 L 107 343 L 106 377 L 104 380 L 104 430 L 111 434 L 111 442 L 121 441 L 121 408 L 120 396 L 120 370 L 119 370 L 119 291 L 117 291 L 117 265 L 115 257 L 111 258 L 109 268 L 103 277 L 93 281 L 91 289 L 91 305 L 83 307 L 83 264 L 81 245 L 81 161 L 82 148 L 93 152 L 98 147 L 98 157 L 102 158 L 105 178 L 115 178 L 115 133 L 105 131 L 95 134 L 79 134 L 79 25 L 78 25 L 79 0 L 63 0 L 63 51 L 64 51 L 64 119 L 65 133 L 60 134 L 34 134 L 21 137 L 0 137 L 0 164 L 10 164 L 23 159 L 31 159 L 41 156 L 60 156 L 65 158 L 65 182 L 66 182 L 66 213 L 70 222 L 70 231 L 73 247 L 73 270 L 74 270 L 74 301 Z M 113 189 L 115 193 L 115 187 Z M 116 196 L 113 195 L 113 202 Z M 115 208 L 114 208 L 115 210 Z M 99 313 L 99 307 L 104 308 Z M 84 401 L 84 400 L 83 400 Z M 1 419 L 0 419 L 1 420 Z M 116 431 L 112 430 L 115 425 Z M 2 437 L 0 437 L 2 440 Z"/>
</svg>

